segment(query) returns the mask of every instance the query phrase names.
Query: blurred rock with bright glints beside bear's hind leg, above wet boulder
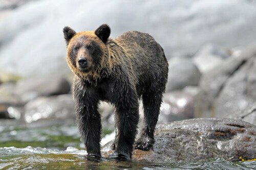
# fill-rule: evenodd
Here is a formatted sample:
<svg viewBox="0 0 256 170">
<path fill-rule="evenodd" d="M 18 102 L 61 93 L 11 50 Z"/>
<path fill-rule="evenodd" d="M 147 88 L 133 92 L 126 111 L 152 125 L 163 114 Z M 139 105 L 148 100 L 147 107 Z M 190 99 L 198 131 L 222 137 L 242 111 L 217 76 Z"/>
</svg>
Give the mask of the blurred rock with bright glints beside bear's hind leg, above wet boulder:
<svg viewBox="0 0 256 170">
<path fill-rule="evenodd" d="M 160 108 L 159 122 L 194 118 L 195 97 L 182 91 L 165 93 Z"/>
</svg>

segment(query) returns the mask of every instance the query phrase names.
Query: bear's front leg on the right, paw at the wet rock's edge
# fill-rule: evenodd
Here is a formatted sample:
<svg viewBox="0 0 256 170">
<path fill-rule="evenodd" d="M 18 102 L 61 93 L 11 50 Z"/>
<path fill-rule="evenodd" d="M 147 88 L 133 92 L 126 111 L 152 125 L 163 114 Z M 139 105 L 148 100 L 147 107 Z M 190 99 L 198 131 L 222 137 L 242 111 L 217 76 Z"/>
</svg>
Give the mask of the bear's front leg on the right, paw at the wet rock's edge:
<svg viewBox="0 0 256 170">
<path fill-rule="evenodd" d="M 116 128 L 115 152 L 110 158 L 131 159 L 133 143 L 137 134 L 139 121 L 139 104 L 133 90 L 125 90 L 116 101 Z"/>
</svg>

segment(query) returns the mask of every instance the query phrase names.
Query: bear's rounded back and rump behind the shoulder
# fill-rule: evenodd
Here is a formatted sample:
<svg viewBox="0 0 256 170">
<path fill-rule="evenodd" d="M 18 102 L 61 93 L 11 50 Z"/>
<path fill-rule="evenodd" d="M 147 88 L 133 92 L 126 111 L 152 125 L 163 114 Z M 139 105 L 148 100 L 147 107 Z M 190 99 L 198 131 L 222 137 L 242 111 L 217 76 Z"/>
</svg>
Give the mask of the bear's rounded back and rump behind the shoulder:
<svg viewBox="0 0 256 170">
<path fill-rule="evenodd" d="M 126 54 L 125 58 L 130 58 L 129 61 L 137 79 L 135 82 L 137 82 L 138 94 L 143 92 L 140 87 L 146 87 L 151 84 L 152 79 L 166 74 L 168 63 L 163 48 L 151 35 L 129 31 L 117 37 L 114 41 L 123 48 Z M 130 65 L 130 63 L 125 65 Z M 131 69 L 131 67 L 128 69 Z"/>
</svg>

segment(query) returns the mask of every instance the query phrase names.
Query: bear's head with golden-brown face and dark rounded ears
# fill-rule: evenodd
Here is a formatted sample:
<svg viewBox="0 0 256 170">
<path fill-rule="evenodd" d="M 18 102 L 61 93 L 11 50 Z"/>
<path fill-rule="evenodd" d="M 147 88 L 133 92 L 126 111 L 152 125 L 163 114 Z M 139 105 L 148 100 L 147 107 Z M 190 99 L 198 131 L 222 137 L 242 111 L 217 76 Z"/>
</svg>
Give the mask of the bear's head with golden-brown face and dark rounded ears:
<svg viewBox="0 0 256 170">
<path fill-rule="evenodd" d="M 63 34 L 67 42 L 67 61 L 74 74 L 96 77 L 108 54 L 106 42 L 110 36 L 110 27 L 103 24 L 95 31 L 80 33 L 65 27 Z"/>
</svg>

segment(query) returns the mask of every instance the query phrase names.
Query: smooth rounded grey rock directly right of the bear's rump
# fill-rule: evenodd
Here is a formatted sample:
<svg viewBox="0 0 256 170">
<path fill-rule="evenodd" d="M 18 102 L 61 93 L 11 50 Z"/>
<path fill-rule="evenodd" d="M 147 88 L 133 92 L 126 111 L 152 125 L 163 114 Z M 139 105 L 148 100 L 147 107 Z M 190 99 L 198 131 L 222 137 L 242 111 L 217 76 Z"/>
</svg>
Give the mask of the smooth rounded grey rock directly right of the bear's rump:
<svg viewBox="0 0 256 170">
<path fill-rule="evenodd" d="M 173 58 L 169 61 L 166 92 L 198 85 L 201 73 L 190 59 Z"/>
</svg>

